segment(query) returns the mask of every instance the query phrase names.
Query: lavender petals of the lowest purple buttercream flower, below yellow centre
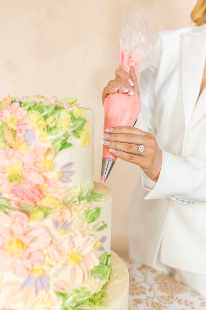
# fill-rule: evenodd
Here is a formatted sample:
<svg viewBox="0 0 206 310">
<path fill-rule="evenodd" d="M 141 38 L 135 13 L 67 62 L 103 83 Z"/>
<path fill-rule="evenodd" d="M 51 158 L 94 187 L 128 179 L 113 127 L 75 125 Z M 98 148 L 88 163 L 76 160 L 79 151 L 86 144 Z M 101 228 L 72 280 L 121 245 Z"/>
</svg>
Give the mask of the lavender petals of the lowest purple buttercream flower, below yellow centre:
<svg viewBox="0 0 206 310">
<path fill-rule="evenodd" d="M 41 289 L 49 291 L 49 283 L 47 275 L 43 274 L 41 277 L 36 277 L 33 275 L 28 276 L 21 284 L 19 290 L 24 290 L 27 287 L 34 286 L 34 294 L 38 295 Z"/>
</svg>

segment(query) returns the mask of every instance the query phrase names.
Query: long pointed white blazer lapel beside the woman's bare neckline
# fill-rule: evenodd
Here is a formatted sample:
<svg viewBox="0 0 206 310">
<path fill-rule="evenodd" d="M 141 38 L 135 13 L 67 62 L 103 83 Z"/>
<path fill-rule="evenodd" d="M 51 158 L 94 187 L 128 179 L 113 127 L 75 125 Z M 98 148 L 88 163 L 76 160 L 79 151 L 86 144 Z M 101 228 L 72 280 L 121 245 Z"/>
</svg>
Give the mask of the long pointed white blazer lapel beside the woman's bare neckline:
<svg viewBox="0 0 206 310">
<path fill-rule="evenodd" d="M 203 27 L 204 26 L 204 27 Z M 183 33 L 181 48 L 181 81 L 185 132 L 197 102 L 206 60 L 206 25 L 195 27 L 190 33 Z M 206 104 L 205 104 L 206 111 Z"/>
</svg>

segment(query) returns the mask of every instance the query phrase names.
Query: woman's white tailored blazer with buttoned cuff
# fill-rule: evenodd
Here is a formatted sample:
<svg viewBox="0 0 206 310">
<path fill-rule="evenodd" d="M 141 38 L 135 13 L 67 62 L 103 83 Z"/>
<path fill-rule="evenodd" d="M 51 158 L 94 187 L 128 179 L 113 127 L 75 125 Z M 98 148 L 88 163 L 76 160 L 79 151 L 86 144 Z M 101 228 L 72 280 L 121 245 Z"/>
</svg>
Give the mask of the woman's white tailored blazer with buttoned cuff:
<svg viewBox="0 0 206 310">
<path fill-rule="evenodd" d="M 161 57 L 141 75 L 135 127 L 153 134 L 162 167 L 157 183 L 142 173 L 128 213 L 129 233 L 151 263 L 160 251 L 162 263 L 206 274 L 206 88 L 198 99 L 206 24 L 160 35 Z"/>
</svg>

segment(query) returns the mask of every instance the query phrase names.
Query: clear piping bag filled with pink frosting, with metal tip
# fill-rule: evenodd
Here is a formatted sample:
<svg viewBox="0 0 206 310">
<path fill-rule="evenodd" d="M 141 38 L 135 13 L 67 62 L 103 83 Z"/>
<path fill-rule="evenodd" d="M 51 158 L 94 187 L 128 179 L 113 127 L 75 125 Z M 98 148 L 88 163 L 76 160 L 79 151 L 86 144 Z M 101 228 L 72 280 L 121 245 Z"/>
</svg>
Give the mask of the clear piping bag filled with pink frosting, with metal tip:
<svg viewBox="0 0 206 310">
<path fill-rule="evenodd" d="M 137 7 L 128 7 L 119 37 L 119 68 L 129 73 L 132 66 L 135 72 L 150 67 L 161 51 L 161 38 Z M 141 100 L 134 91 L 133 95 L 109 94 L 104 101 L 104 133 L 107 128 L 134 126 L 141 110 Z M 105 184 L 115 164 L 109 148 L 103 146 L 102 171 L 100 183 Z"/>
</svg>

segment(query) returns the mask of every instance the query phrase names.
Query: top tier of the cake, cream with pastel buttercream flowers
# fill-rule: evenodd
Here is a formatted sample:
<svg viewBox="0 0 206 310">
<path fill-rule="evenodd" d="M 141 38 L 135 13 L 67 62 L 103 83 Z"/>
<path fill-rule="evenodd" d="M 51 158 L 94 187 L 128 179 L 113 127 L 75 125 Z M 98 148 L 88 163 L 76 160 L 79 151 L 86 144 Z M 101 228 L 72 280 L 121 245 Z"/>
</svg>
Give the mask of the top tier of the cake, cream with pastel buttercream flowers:
<svg viewBox="0 0 206 310">
<path fill-rule="evenodd" d="M 1 197 L 13 206 L 42 205 L 45 199 L 61 204 L 67 188 L 87 181 L 92 185 L 93 118 L 93 110 L 80 108 L 76 98 L 4 98 Z"/>
</svg>

